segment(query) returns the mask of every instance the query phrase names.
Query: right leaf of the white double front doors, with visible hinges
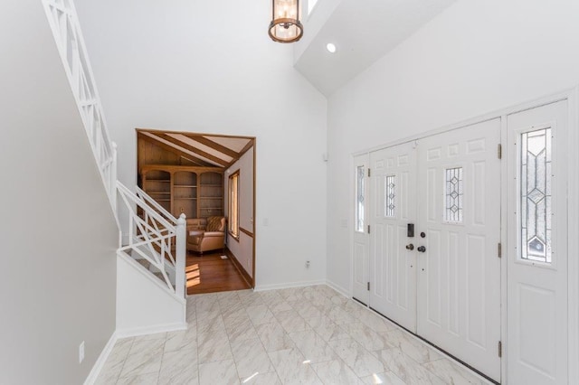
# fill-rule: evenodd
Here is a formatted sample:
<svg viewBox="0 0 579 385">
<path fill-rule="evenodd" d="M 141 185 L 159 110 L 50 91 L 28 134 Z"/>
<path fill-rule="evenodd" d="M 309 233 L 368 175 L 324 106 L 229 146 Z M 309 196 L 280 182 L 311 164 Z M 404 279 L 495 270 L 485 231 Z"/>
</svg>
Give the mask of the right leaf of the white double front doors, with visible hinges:
<svg viewBox="0 0 579 385">
<path fill-rule="evenodd" d="M 417 333 L 500 380 L 500 118 L 418 142 Z"/>
</svg>

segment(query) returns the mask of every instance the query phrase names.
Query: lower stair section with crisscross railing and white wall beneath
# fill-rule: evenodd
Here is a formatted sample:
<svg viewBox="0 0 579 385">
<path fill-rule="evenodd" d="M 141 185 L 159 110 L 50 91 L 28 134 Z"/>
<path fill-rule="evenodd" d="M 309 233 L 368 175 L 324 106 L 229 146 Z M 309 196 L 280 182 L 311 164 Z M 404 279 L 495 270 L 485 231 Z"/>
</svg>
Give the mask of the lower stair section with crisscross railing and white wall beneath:
<svg viewBox="0 0 579 385">
<path fill-rule="evenodd" d="M 118 189 L 129 237 L 117 252 L 117 334 L 185 329 L 185 215 L 176 219 L 138 188 Z"/>
</svg>

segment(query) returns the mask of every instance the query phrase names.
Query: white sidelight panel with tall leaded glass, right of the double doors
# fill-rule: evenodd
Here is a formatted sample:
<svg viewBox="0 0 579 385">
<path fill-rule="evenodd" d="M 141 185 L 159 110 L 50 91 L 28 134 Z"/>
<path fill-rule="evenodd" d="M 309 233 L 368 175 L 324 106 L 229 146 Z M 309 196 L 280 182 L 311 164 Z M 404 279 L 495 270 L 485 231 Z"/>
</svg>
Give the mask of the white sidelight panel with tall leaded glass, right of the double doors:
<svg viewBox="0 0 579 385">
<path fill-rule="evenodd" d="M 512 384 L 567 383 L 566 141 L 566 100 L 508 116 Z"/>
</svg>

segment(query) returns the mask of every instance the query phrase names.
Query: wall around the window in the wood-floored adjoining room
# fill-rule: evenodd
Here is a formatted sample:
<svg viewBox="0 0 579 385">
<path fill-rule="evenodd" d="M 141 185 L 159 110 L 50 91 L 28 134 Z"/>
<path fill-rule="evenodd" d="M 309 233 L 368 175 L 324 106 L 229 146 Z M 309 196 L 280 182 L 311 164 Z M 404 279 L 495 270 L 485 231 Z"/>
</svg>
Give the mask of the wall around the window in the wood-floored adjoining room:
<svg viewBox="0 0 579 385">
<path fill-rule="evenodd" d="M 229 167 L 223 175 L 225 216 L 229 215 L 229 176 L 239 171 L 239 226 L 253 232 L 253 148 Z M 250 277 L 253 277 L 253 238 L 240 230 L 239 239 L 227 235 L 227 248 Z"/>
</svg>

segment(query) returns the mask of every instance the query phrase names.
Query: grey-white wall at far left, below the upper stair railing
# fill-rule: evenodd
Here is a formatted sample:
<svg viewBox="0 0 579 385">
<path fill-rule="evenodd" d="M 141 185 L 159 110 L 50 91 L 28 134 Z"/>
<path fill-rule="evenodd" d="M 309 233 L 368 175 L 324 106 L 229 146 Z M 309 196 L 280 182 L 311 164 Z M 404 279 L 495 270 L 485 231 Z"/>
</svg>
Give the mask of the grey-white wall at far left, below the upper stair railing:
<svg viewBox="0 0 579 385">
<path fill-rule="evenodd" d="M 80 384 L 115 330 L 117 225 L 40 1 L 3 1 L 0 51 L 0 383 Z"/>
</svg>

